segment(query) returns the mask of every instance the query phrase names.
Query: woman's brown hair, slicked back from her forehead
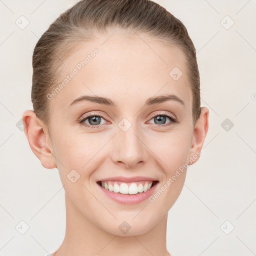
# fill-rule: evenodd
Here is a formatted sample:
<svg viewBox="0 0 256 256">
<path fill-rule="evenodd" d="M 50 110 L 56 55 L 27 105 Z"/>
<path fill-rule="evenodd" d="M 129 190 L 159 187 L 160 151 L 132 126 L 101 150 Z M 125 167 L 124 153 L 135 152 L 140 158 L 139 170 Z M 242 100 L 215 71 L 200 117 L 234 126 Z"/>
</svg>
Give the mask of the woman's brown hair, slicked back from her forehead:
<svg viewBox="0 0 256 256">
<path fill-rule="evenodd" d="M 192 117 L 200 116 L 200 78 L 196 51 L 183 23 L 151 0 L 81 0 L 61 13 L 37 41 L 32 56 L 31 100 L 36 116 L 49 122 L 46 95 L 59 82 L 63 60 L 77 46 L 110 28 L 140 32 L 177 46 L 186 57 L 192 91 Z"/>
</svg>

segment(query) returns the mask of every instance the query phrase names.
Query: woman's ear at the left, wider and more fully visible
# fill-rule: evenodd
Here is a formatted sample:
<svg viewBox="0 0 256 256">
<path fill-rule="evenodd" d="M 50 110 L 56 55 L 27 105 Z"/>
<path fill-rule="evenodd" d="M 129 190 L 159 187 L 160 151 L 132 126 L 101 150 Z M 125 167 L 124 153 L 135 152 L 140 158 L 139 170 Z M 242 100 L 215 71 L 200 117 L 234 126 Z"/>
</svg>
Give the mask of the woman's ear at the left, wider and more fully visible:
<svg viewBox="0 0 256 256">
<path fill-rule="evenodd" d="M 26 138 L 33 153 L 43 167 L 56 167 L 50 136 L 47 126 L 36 116 L 33 110 L 26 110 L 23 115 L 23 125 Z"/>
</svg>

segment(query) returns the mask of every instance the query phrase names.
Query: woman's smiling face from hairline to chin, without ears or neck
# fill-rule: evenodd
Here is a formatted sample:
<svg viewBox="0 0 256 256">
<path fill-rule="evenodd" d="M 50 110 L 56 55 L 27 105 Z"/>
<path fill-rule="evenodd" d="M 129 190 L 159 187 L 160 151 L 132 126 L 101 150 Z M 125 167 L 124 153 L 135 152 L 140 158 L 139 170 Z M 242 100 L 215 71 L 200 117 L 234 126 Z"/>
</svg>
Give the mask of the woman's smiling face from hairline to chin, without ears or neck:
<svg viewBox="0 0 256 256">
<path fill-rule="evenodd" d="M 193 145 L 192 92 L 180 49 L 141 34 L 110 35 L 84 42 L 64 60 L 63 86 L 48 94 L 47 145 L 69 208 L 107 232 L 125 235 L 120 224 L 126 221 L 127 235 L 142 234 L 177 199 L 185 164 L 199 158 Z M 109 100 L 76 100 L 85 95 Z M 134 195 L 106 194 L 100 186 L 105 179 L 110 187 L 120 184 L 121 177 L 138 177 L 133 184 L 138 189 L 139 183 L 145 189 L 147 180 L 158 183 Z"/>
</svg>

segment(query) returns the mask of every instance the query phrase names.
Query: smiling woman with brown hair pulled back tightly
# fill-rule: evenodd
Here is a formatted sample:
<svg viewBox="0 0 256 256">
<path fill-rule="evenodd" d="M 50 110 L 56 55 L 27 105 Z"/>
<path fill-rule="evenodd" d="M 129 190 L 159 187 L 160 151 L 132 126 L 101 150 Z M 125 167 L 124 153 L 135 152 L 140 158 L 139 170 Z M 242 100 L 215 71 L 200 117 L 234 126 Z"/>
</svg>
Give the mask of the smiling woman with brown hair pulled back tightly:
<svg viewBox="0 0 256 256">
<path fill-rule="evenodd" d="M 33 52 L 25 135 L 65 189 L 53 256 L 167 256 L 168 210 L 208 130 L 195 48 L 150 0 L 82 0 Z"/>
</svg>

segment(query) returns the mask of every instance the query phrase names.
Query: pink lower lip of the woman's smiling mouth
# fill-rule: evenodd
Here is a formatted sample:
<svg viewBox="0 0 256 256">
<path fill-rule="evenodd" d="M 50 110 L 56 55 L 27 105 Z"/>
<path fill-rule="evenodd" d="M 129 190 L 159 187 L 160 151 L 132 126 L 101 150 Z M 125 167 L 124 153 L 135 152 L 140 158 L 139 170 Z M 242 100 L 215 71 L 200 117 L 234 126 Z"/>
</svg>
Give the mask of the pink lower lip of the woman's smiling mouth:
<svg viewBox="0 0 256 256">
<path fill-rule="evenodd" d="M 158 183 L 153 185 L 149 190 L 147 190 L 145 192 L 137 193 L 137 194 L 115 193 L 115 192 L 111 192 L 111 191 L 101 187 L 99 184 L 97 184 L 97 185 L 101 189 L 101 191 L 103 193 L 105 193 L 105 195 L 107 195 L 108 197 L 110 197 L 114 201 L 119 202 L 119 203 L 123 203 L 123 204 L 135 204 L 135 203 L 142 202 L 143 200 L 148 198 L 154 192 L 155 187 Z"/>
</svg>

